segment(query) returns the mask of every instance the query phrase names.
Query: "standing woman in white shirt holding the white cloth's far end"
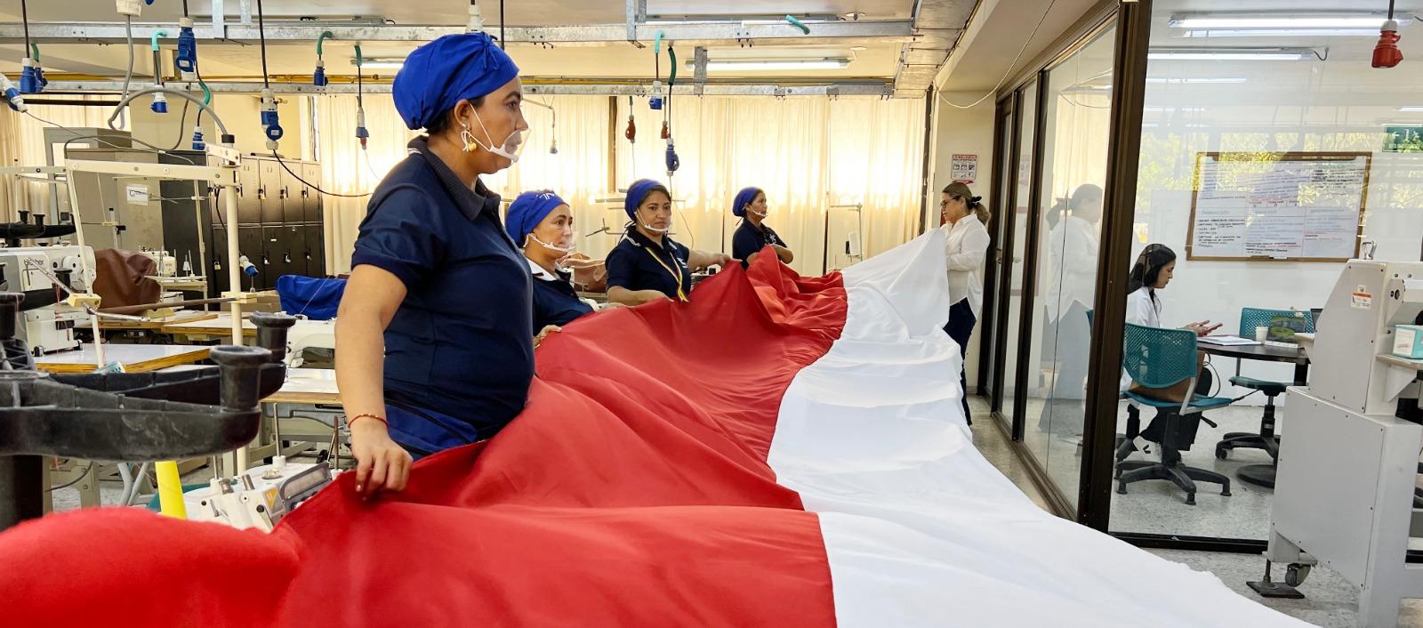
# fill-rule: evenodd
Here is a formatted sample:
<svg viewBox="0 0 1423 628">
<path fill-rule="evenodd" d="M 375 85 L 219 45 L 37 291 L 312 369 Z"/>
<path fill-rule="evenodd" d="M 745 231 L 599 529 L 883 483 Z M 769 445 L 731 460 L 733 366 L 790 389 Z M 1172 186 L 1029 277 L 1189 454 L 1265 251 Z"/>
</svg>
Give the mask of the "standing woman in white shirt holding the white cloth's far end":
<svg viewBox="0 0 1423 628">
<path fill-rule="evenodd" d="M 939 199 L 939 226 L 948 235 L 945 238 L 943 253 L 949 265 L 949 323 L 943 330 L 959 343 L 959 357 L 968 355 L 969 336 L 973 325 L 978 323 L 983 310 L 983 261 L 988 256 L 988 228 L 983 225 L 989 219 L 988 208 L 980 202 L 982 197 L 975 197 L 968 185 L 953 182 L 943 188 Z M 963 393 L 963 420 L 969 419 L 968 377 L 963 375 L 963 363 L 959 362 L 959 389 Z"/>
</svg>

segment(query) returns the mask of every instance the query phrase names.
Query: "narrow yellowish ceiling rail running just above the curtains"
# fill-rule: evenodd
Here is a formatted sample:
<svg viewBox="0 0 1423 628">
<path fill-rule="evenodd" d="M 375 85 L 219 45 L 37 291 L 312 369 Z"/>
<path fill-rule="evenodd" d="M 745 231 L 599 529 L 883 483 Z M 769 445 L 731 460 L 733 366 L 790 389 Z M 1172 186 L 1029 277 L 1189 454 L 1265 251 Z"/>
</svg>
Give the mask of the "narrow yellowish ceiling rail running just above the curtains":
<svg viewBox="0 0 1423 628">
<path fill-rule="evenodd" d="M 182 83 L 182 81 L 166 81 L 168 87 L 172 88 L 189 88 L 191 91 L 198 91 L 196 83 Z M 131 90 L 141 90 L 148 87 L 148 84 L 134 83 L 129 85 Z M 776 84 L 760 84 L 760 85 L 734 85 L 734 84 L 707 84 L 707 85 L 676 85 L 673 87 L 673 94 L 676 95 L 696 95 L 700 87 L 702 95 L 771 95 L 771 97 L 794 97 L 794 95 L 874 95 L 874 97 L 889 97 L 892 95 L 892 85 L 888 83 L 827 83 L 822 85 L 776 85 Z M 122 91 L 124 81 L 50 81 L 46 87 L 46 94 L 65 94 L 65 93 L 118 93 Z M 256 94 L 262 91 L 262 84 L 256 81 L 213 81 L 208 83 L 208 88 L 218 94 Z M 326 87 L 314 87 L 310 83 L 272 83 L 272 91 L 276 94 L 354 94 L 356 84 L 351 83 L 332 83 Z M 552 84 L 552 83 L 525 83 L 524 91 L 532 95 L 549 94 L 549 95 L 646 95 L 647 85 L 643 84 Z M 367 94 L 388 94 L 390 84 L 366 84 L 364 93 Z M 922 94 L 916 94 L 922 95 Z"/>
</svg>

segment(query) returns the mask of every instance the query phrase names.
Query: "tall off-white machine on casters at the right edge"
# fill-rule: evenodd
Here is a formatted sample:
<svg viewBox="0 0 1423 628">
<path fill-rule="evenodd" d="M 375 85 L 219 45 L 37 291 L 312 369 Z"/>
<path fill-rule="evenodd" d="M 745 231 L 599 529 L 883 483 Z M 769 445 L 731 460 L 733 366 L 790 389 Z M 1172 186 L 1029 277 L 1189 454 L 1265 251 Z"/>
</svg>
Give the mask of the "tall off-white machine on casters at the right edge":
<svg viewBox="0 0 1423 628">
<path fill-rule="evenodd" d="M 1423 598 L 1423 565 L 1406 562 L 1423 537 L 1414 507 L 1423 426 L 1423 360 L 1393 355 L 1395 326 L 1423 310 L 1423 262 L 1350 261 L 1335 283 L 1316 333 L 1301 345 L 1313 369 L 1308 387 L 1286 392 L 1286 433 L 1271 513 L 1265 597 L 1295 588 L 1325 564 L 1359 587 L 1359 625 L 1392 627 L 1399 602 Z M 1288 565 L 1271 581 L 1271 562 Z"/>
</svg>

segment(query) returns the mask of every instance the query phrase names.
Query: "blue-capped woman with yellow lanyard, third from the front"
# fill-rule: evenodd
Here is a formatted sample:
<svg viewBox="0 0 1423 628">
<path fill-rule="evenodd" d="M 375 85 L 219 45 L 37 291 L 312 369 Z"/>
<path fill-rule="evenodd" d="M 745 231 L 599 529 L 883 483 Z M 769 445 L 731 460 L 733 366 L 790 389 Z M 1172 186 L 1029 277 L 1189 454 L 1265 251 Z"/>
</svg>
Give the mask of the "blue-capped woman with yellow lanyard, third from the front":
<svg viewBox="0 0 1423 628">
<path fill-rule="evenodd" d="M 605 262 L 609 303 L 687 300 L 692 272 L 731 262 L 730 255 L 689 249 L 667 235 L 672 229 L 672 192 L 666 185 L 650 179 L 633 182 L 628 187 L 623 209 L 632 222 Z"/>
</svg>

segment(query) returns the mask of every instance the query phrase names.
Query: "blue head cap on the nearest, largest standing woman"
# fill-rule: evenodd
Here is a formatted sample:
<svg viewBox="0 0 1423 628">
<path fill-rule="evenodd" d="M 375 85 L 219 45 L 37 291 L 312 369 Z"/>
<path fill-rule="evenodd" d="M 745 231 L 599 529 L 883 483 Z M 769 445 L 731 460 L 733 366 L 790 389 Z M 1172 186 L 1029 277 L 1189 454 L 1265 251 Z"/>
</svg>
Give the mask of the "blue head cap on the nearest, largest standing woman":
<svg viewBox="0 0 1423 628">
<path fill-rule="evenodd" d="M 410 53 L 390 91 L 406 127 L 421 130 L 461 100 L 488 95 L 518 75 L 490 36 L 448 34 Z"/>
</svg>

